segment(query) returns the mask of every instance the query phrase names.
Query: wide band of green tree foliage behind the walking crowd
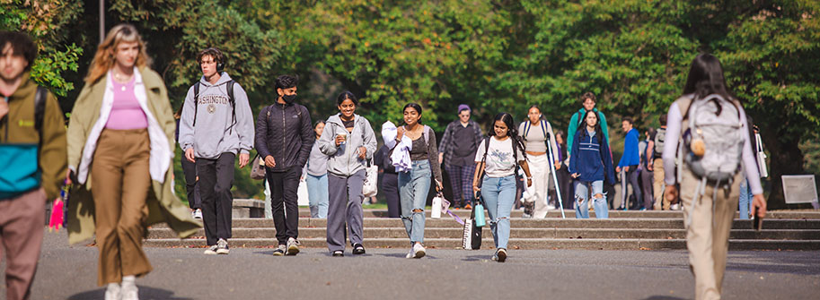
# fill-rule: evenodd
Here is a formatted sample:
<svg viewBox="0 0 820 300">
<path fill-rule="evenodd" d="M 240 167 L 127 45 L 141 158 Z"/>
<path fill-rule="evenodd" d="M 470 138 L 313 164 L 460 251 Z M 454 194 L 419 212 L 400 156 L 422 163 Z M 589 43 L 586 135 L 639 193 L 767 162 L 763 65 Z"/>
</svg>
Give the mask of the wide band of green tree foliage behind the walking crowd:
<svg viewBox="0 0 820 300">
<path fill-rule="evenodd" d="M 79 48 L 63 46 L 73 42 L 93 53 L 89 41 L 95 40 L 96 24 L 83 21 L 93 20 L 93 14 L 77 13 L 84 4 L 49 2 L 56 5 L 51 11 L 57 4 L 71 9 L 47 19 L 22 0 L 0 1 L 4 28 L 40 24 L 32 16 L 48 20 L 49 33 L 34 36 L 45 45 L 41 53 L 53 57 L 47 64 L 52 70 L 90 63 L 90 56 L 76 59 L 80 52 L 71 49 Z M 485 129 L 500 111 L 523 120 L 531 105 L 563 129 L 580 107 L 578 96 L 593 91 L 618 145 L 622 117 L 635 118 L 641 131 L 657 126 L 657 116 L 680 96 L 694 56 L 710 52 L 721 59 L 730 88 L 762 129 L 771 154 L 770 205 L 784 207 L 780 175 L 816 166 L 818 150 L 810 141 L 820 125 L 820 4 L 813 0 L 114 0 L 109 5 L 109 25 L 128 21 L 140 28 L 174 106 L 199 76 L 196 53 L 220 47 L 228 56 L 228 73 L 251 90 L 254 111 L 276 98 L 276 74 L 295 73 L 301 78 L 299 101 L 313 120 L 334 114 L 335 96 L 351 90 L 362 100 L 357 113 L 377 132 L 385 120 L 401 123 L 401 107 L 408 102 L 424 107 L 423 123 L 439 135 L 460 103 L 474 108 Z M 55 33 L 78 15 L 84 17 L 71 31 L 74 37 Z M 60 51 L 68 52 L 61 56 Z M 53 74 L 40 81 L 60 87 L 65 74 Z M 67 78 L 64 90 L 82 84 L 75 77 Z M 617 159 L 621 149 L 613 150 Z M 261 184 L 245 173 L 236 173 L 236 194 L 260 195 Z"/>
</svg>

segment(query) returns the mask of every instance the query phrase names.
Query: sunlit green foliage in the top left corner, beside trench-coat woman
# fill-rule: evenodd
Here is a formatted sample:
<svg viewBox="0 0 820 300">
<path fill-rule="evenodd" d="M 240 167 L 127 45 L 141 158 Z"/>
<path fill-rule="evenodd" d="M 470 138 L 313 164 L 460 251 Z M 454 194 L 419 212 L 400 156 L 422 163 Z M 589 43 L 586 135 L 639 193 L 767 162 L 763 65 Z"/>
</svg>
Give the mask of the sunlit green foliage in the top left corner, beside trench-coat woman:
<svg viewBox="0 0 820 300">
<path fill-rule="evenodd" d="M 74 90 L 74 82 L 66 81 L 65 74 L 77 71 L 83 49 L 68 39 L 66 27 L 82 10 L 72 1 L 0 1 L 0 30 L 23 31 L 34 39 L 40 56 L 31 65 L 31 78 L 57 96 Z"/>
</svg>

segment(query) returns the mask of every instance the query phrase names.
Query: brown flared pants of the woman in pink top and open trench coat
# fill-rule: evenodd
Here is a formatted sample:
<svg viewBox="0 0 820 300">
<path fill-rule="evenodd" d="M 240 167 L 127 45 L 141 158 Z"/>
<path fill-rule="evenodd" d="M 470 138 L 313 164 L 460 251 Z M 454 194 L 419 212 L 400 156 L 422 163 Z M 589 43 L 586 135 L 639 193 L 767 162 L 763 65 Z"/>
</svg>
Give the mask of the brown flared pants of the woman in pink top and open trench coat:
<svg viewBox="0 0 820 300">
<path fill-rule="evenodd" d="M 97 284 L 151 271 L 142 250 L 151 186 L 145 129 L 102 131 L 92 163 L 92 193 L 100 265 Z"/>
</svg>

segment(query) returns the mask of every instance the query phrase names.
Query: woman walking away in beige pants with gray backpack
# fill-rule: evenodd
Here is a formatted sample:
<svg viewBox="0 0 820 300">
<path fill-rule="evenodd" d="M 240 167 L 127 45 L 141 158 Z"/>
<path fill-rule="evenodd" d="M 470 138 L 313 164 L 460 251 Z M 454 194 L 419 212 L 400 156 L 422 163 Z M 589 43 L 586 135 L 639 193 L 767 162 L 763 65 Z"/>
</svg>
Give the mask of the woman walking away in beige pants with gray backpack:
<svg viewBox="0 0 820 300">
<path fill-rule="evenodd" d="M 665 181 L 666 198 L 673 202 L 678 194 L 675 184 L 681 186 L 683 224 L 689 264 L 695 279 L 695 298 L 720 299 L 729 231 L 743 177 L 741 169 L 752 186 L 752 213 L 758 218 L 766 215 L 766 201 L 754 162 L 745 111 L 731 96 L 717 57 L 700 54 L 692 60 L 683 96 L 669 107 L 666 116 L 666 141 L 669 142 L 664 144 L 664 168 L 667 171 L 675 169 L 675 150 L 682 136 L 686 144 L 681 155 L 689 157 L 680 166 L 681 181 L 677 182 L 673 172 L 666 172 Z M 702 122 L 706 120 L 710 122 Z M 695 128 L 691 128 L 692 124 Z M 722 167 L 728 165 L 733 168 L 727 173 Z M 728 178 L 715 178 L 715 175 Z"/>
</svg>

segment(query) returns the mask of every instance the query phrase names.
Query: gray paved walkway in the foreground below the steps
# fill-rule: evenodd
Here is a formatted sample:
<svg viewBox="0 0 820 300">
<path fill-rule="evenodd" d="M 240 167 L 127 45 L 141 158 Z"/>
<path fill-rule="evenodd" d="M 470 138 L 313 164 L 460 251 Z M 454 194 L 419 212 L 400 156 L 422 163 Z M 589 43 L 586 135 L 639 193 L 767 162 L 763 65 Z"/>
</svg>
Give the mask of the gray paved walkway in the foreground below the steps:
<svg viewBox="0 0 820 300">
<path fill-rule="evenodd" d="M 65 235 L 46 234 L 31 298 L 101 299 L 96 248 L 68 247 Z M 694 289 L 684 251 L 511 250 L 498 263 L 491 250 L 429 249 L 421 260 L 405 259 L 406 249 L 348 249 L 344 258 L 315 248 L 295 257 L 202 250 L 146 248 L 154 271 L 137 279 L 142 299 L 691 299 Z M 820 252 L 729 253 L 726 299 L 818 291 Z"/>
</svg>

